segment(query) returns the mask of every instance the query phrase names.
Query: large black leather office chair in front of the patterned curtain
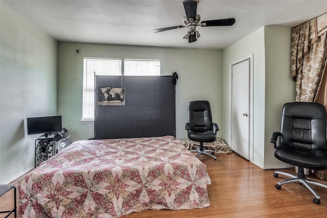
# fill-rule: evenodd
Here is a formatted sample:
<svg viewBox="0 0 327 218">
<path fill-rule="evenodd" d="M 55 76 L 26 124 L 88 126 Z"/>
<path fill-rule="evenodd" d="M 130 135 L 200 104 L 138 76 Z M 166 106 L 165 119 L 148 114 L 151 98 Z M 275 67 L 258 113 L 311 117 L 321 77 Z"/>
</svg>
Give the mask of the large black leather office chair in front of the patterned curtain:
<svg viewBox="0 0 327 218">
<path fill-rule="evenodd" d="M 320 197 L 310 184 L 324 188 L 327 188 L 327 185 L 307 180 L 304 168 L 327 169 L 325 107 L 314 102 L 286 103 L 283 106 L 281 132 L 274 132 L 270 142 L 275 146 L 275 158 L 298 166 L 297 176 L 275 171 L 273 176 L 276 178 L 278 174 L 291 178 L 278 182 L 275 187 L 281 189 L 283 184 L 299 182 L 315 195 L 313 202 L 320 204 Z"/>
</svg>

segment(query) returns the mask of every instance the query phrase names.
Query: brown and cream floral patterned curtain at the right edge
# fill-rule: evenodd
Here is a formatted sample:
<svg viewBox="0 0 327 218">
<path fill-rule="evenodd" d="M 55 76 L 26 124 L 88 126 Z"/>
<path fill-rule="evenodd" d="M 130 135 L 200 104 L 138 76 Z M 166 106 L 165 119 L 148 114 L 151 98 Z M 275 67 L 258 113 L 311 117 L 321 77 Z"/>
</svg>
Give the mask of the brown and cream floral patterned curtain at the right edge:
<svg viewBox="0 0 327 218">
<path fill-rule="evenodd" d="M 292 29 L 291 70 L 296 81 L 296 101 L 312 102 L 317 96 L 324 99 L 321 93 L 327 92 L 327 87 L 321 81 L 326 81 L 326 35 L 327 13 Z"/>
</svg>

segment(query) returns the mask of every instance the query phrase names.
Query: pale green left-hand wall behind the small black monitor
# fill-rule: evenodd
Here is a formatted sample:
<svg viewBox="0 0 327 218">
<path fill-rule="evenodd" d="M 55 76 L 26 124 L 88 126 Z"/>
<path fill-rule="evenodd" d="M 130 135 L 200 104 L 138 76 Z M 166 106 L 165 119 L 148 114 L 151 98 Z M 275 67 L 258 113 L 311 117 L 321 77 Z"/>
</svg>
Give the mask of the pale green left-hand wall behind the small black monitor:
<svg viewBox="0 0 327 218">
<path fill-rule="evenodd" d="M 57 41 L 0 2 L 0 183 L 34 168 L 26 118 L 57 113 Z"/>
</svg>

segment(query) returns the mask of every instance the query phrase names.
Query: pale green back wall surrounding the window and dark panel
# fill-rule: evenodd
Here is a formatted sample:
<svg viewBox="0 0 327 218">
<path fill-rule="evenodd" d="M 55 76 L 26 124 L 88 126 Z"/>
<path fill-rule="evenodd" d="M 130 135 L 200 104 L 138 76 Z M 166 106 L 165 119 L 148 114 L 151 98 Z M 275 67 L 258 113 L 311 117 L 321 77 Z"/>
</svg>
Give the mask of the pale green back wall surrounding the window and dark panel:
<svg viewBox="0 0 327 218">
<path fill-rule="evenodd" d="M 63 116 L 66 128 L 73 128 L 74 141 L 94 137 L 94 124 L 81 122 L 84 57 L 159 59 L 161 75 L 172 75 L 173 72 L 179 75 L 176 85 L 176 137 L 187 138 L 184 128 L 186 110 L 192 100 L 210 101 L 213 119 L 223 129 L 221 50 L 59 42 L 58 53 L 58 114 Z M 219 137 L 222 132 L 219 131 Z"/>
</svg>

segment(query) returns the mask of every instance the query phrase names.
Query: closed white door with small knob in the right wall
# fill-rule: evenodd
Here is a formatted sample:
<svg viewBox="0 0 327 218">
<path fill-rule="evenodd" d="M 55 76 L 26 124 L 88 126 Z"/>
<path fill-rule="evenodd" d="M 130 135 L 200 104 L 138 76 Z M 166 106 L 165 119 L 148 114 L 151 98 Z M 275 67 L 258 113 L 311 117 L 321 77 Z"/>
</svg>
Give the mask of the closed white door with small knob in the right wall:
<svg viewBox="0 0 327 218">
<path fill-rule="evenodd" d="M 231 66 L 231 148 L 249 160 L 250 59 Z"/>
</svg>

